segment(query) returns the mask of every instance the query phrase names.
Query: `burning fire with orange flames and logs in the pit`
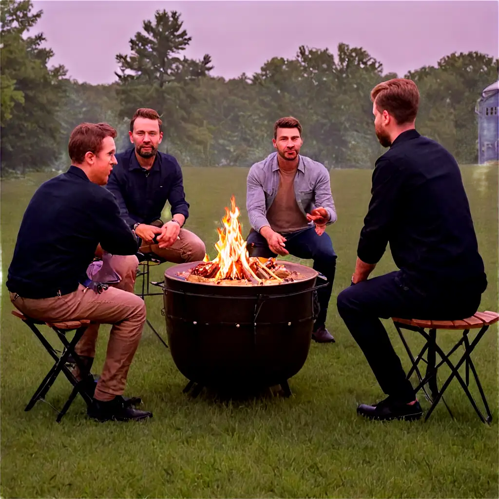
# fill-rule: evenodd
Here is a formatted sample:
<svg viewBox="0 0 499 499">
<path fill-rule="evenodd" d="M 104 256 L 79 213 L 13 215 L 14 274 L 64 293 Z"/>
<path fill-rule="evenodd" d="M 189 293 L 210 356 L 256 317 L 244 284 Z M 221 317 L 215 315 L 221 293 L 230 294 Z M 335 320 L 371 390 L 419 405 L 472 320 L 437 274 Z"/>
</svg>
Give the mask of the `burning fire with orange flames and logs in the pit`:
<svg viewBox="0 0 499 499">
<path fill-rule="evenodd" d="M 285 269 L 284 265 L 276 265 L 274 258 L 261 261 L 260 258 L 249 256 L 246 248 L 247 242 L 241 234 L 241 224 L 238 220 L 240 211 L 236 206 L 234 196 L 231 197 L 231 209 L 226 207 L 225 211 L 226 215 L 222 219 L 224 228 L 217 228 L 219 235 L 219 240 L 215 245 L 218 251 L 217 257 L 210 261 L 208 255 L 205 254 L 203 263 L 199 263 L 187 272 L 188 280 L 198 280 L 192 276 L 217 283 L 222 280 L 246 280 L 263 284 L 267 280 L 272 280 L 274 283 L 290 280 L 290 272 Z"/>
</svg>

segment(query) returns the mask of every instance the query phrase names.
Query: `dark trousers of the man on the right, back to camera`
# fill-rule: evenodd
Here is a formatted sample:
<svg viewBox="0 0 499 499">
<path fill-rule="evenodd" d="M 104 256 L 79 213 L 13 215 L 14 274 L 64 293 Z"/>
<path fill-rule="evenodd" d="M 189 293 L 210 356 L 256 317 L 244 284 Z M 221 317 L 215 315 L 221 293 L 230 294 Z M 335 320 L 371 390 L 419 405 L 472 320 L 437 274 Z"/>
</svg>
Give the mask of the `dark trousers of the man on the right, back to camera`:
<svg viewBox="0 0 499 499">
<path fill-rule="evenodd" d="M 403 282 L 402 273 L 390 272 L 343 290 L 337 298 L 338 312 L 362 349 L 383 392 L 403 402 L 415 399 L 414 389 L 379 317 L 427 320 L 457 320 L 472 316 L 481 293 L 466 287 L 416 290 Z"/>
</svg>

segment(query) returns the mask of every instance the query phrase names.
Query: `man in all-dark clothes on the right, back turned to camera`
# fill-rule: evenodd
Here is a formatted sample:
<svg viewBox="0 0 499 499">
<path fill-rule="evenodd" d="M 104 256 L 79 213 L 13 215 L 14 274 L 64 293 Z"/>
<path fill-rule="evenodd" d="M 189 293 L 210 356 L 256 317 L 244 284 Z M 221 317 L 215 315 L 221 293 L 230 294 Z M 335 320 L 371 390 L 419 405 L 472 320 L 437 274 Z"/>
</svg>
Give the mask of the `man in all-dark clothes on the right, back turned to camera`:
<svg viewBox="0 0 499 499">
<path fill-rule="evenodd" d="M 338 295 L 338 312 L 388 395 L 357 412 L 371 419 L 418 419 L 421 406 L 379 318 L 469 317 L 487 278 L 459 166 L 415 130 L 416 84 L 380 83 L 371 100 L 376 135 L 390 149 L 376 161 L 352 285 Z M 367 279 L 387 244 L 400 270 Z"/>
</svg>

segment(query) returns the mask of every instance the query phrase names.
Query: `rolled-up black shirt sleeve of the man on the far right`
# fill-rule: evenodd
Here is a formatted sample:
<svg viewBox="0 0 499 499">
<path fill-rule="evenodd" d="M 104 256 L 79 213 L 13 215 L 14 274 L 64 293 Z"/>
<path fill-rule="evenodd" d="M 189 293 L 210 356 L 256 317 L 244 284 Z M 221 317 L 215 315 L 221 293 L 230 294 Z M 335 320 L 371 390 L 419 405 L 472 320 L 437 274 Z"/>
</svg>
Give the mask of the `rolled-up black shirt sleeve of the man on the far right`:
<svg viewBox="0 0 499 499">
<path fill-rule="evenodd" d="M 402 173 L 386 159 L 377 162 L 372 175 L 371 200 L 360 232 L 357 256 L 365 263 L 378 263 L 390 237 Z"/>
</svg>

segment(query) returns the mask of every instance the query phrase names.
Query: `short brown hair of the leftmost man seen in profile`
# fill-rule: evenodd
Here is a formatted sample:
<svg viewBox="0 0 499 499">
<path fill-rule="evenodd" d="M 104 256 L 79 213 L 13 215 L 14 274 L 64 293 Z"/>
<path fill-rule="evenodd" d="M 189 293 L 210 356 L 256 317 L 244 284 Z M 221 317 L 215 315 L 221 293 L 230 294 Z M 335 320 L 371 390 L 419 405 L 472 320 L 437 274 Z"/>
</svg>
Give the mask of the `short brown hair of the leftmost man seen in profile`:
<svg viewBox="0 0 499 499">
<path fill-rule="evenodd" d="M 81 164 L 85 154 L 99 154 L 102 151 L 102 141 L 106 137 L 117 136 L 116 130 L 107 123 L 81 123 L 69 137 L 68 152 L 73 163 Z"/>
</svg>

